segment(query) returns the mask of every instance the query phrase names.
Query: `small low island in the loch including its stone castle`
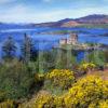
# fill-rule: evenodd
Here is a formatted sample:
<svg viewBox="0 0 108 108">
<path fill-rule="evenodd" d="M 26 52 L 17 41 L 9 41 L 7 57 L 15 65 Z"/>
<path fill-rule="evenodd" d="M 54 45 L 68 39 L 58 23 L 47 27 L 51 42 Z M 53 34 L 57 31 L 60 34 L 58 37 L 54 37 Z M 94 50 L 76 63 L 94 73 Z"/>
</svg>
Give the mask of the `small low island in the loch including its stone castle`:
<svg viewBox="0 0 108 108">
<path fill-rule="evenodd" d="M 64 50 L 79 50 L 79 51 L 91 51 L 104 49 L 103 44 L 97 43 L 80 43 L 78 42 L 78 35 L 70 33 L 69 38 L 64 38 L 59 40 L 59 45 L 56 46 Z"/>
</svg>

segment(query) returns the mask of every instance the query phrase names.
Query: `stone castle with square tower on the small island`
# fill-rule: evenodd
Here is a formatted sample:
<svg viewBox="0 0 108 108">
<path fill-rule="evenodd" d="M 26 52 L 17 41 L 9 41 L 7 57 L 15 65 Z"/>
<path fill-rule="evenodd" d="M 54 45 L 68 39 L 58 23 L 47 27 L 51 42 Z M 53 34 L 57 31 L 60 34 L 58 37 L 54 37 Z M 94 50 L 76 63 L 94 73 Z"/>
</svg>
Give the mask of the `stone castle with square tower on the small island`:
<svg viewBox="0 0 108 108">
<path fill-rule="evenodd" d="M 78 43 L 78 35 L 77 33 L 70 33 L 69 39 L 62 39 L 59 40 L 59 44 L 77 44 Z"/>
</svg>

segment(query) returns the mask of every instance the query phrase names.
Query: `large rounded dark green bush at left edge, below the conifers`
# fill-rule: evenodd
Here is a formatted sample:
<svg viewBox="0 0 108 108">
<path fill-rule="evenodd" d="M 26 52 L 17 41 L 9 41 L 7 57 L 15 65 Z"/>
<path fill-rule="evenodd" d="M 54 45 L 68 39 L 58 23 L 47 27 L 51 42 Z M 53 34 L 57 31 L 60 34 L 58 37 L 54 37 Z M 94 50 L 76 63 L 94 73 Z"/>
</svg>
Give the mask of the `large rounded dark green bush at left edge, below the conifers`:
<svg viewBox="0 0 108 108">
<path fill-rule="evenodd" d="M 12 63 L 12 62 L 11 62 Z M 27 97 L 35 77 L 28 67 L 19 62 L 0 66 L 0 99 Z"/>
</svg>

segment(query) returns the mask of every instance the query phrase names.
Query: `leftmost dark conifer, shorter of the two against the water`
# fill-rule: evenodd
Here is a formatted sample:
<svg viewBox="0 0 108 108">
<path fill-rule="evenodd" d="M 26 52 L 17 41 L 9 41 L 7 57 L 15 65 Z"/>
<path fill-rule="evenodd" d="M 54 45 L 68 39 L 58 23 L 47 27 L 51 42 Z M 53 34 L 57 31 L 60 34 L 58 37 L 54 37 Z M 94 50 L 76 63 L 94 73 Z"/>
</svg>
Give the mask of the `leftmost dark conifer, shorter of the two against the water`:
<svg viewBox="0 0 108 108">
<path fill-rule="evenodd" d="M 2 45 L 3 57 L 13 58 L 16 52 L 16 45 L 12 37 L 9 37 Z"/>
</svg>

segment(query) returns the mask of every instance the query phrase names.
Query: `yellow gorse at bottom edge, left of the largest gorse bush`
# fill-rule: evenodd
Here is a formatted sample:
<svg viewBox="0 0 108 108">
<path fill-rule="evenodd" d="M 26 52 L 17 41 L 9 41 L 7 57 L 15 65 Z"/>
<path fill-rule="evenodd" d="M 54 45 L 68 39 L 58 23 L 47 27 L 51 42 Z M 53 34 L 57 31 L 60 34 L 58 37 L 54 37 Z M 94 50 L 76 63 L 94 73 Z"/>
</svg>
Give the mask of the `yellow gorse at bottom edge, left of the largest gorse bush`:
<svg viewBox="0 0 108 108">
<path fill-rule="evenodd" d="M 40 91 L 36 97 L 21 104 L 18 108 L 65 108 L 63 97 L 53 96 L 46 91 Z"/>
</svg>

